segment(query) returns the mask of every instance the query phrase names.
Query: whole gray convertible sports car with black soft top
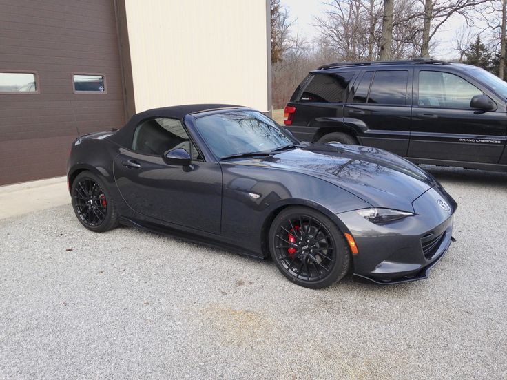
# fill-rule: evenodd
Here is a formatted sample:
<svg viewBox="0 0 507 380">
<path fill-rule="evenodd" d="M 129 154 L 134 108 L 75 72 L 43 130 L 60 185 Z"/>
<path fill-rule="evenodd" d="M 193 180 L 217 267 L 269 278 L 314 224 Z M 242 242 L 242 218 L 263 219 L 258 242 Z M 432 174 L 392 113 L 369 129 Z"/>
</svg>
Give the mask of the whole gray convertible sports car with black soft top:
<svg viewBox="0 0 507 380">
<path fill-rule="evenodd" d="M 247 107 L 151 109 L 72 143 L 68 184 L 87 229 L 118 224 L 259 258 L 322 288 L 349 270 L 425 278 L 451 244 L 456 202 L 411 162 L 371 147 L 302 143 Z"/>
</svg>

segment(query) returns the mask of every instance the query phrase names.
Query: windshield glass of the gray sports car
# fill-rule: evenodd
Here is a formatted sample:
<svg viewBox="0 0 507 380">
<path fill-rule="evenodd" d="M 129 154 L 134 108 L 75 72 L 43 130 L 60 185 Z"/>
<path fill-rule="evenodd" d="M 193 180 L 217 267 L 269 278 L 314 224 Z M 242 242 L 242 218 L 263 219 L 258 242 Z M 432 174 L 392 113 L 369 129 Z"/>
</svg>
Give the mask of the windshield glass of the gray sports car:
<svg viewBox="0 0 507 380">
<path fill-rule="evenodd" d="M 299 141 L 270 118 L 257 111 L 211 114 L 194 122 L 196 129 L 218 158 L 269 153 Z"/>
</svg>

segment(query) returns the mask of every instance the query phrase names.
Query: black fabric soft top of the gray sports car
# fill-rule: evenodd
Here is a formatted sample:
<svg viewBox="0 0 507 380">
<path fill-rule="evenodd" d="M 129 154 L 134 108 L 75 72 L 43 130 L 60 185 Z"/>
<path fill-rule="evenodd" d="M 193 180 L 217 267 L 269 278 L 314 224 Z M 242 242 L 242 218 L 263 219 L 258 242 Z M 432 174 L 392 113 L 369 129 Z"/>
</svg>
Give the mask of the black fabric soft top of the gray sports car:
<svg viewBox="0 0 507 380">
<path fill-rule="evenodd" d="M 146 111 L 139 112 L 130 118 L 119 131 L 107 137 L 108 140 L 116 142 L 122 147 L 130 147 L 132 145 L 132 138 L 136 127 L 143 121 L 149 118 L 176 118 L 182 120 L 188 114 L 195 114 L 196 112 L 211 111 L 213 109 L 226 109 L 241 107 L 239 105 L 231 104 L 188 104 L 188 105 L 174 105 L 172 107 L 162 107 L 147 109 Z"/>
</svg>

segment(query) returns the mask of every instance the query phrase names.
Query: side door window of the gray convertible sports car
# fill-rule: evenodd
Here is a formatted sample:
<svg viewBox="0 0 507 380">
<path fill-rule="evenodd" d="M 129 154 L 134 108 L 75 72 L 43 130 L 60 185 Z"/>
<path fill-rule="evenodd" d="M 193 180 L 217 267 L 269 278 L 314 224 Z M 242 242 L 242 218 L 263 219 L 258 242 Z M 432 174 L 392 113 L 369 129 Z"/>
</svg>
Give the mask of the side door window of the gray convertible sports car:
<svg viewBox="0 0 507 380">
<path fill-rule="evenodd" d="M 161 156 L 165 151 L 177 148 L 185 149 L 193 160 L 202 160 L 180 120 L 153 118 L 138 125 L 134 131 L 133 151 Z"/>
</svg>

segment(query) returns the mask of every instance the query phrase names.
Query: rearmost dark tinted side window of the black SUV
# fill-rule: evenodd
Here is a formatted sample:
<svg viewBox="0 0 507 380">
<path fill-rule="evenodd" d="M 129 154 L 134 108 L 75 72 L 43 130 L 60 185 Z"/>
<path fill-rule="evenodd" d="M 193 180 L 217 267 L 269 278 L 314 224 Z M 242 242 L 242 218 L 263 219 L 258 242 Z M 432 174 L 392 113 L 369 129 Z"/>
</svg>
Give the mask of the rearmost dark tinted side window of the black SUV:
<svg viewBox="0 0 507 380">
<path fill-rule="evenodd" d="M 346 97 L 354 72 L 340 72 L 337 74 L 315 74 L 304 89 L 300 101 L 311 103 L 342 103 Z"/>
</svg>

